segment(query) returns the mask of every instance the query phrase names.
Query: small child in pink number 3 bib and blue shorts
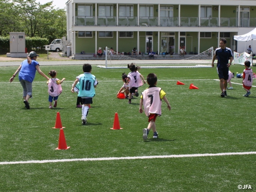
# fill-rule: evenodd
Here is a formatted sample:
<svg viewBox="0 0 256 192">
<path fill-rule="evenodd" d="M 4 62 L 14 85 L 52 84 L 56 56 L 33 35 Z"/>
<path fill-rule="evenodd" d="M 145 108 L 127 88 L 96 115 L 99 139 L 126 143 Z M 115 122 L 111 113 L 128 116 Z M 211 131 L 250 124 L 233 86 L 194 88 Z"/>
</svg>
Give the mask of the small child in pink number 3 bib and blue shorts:
<svg viewBox="0 0 256 192">
<path fill-rule="evenodd" d="M 51 78 L 47 81 L 48 84 L 48 93 L 49 93 L 49 108 L 52 108 L 52 101 L 54 100 L 54 105 L 53 107 L 55 108 L 57 106 L 57 100 L 59 95 L 62 93 L 62 87 L 61 84 L 65 80 L 65 78 L 62 78 L 62 80 L 59 80 L 56 78 L 57 72 L 54 70 L 51 70 L 48 73 Z"/>
</svg>

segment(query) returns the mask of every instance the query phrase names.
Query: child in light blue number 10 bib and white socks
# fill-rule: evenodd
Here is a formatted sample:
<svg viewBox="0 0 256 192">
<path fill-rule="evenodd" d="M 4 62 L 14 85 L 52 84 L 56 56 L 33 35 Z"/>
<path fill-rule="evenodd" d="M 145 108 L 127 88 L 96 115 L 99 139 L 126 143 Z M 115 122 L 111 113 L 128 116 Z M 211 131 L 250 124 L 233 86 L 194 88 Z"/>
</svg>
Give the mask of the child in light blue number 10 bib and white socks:
<svg viewBox="0 0 256 192">
<path fill-rule="evenodd" d="M 82 124 L 86 125 L 87 115 L 89 112 L 90 104 L 92 104 L 92 98 L 95 96 L 95 88 L 98 84 L 96 77 L 91 74 L 92 66 L 90 64 L 83 65 L 83 74 L 76 77 L 76 80 L 72 86 L 71 92 L 74 93 L 74 88 L 79 82 L 78 97 L 82 98 Z"/>
</svg>

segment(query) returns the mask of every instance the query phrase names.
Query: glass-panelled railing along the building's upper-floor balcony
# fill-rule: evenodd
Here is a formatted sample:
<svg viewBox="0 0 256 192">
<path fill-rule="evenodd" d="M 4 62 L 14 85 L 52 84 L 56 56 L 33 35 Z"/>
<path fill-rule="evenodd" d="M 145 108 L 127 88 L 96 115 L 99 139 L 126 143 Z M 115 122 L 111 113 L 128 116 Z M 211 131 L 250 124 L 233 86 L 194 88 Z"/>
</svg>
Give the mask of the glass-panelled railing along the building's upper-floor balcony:
<svg viewBox="0 0 256 192">
<path fill-rule="evenodd" d="M 199 25 L 200 20 L 200 25 Z M 76 16 L 76 26 L 95 26 L 95 16 Z M 237 18 L 181 17 L 180 27 L 238 27 Z M 116 17 L 97 17 L 97 26 L 116 26 Z M 118 26 L 158 26 L 158 17 L 119 17 Z M 160 27 L 178 27 L 178 17 L 160 17 Z M 256 18 L 240 18 L 239 27 L 255 27 Z"/>
</svg>

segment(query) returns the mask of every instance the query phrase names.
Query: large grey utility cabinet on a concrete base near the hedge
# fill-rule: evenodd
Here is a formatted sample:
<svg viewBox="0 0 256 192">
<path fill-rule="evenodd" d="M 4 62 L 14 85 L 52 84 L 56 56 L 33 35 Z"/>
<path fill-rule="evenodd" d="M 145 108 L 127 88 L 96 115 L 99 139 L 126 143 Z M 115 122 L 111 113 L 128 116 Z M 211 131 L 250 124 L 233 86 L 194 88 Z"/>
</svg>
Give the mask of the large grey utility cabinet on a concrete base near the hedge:
<svg viewBox="0 0 256 192">
<path fill-rule="evenodd" d="M 26 39 L 24 32 L 10 32 L 10 53 L 7 57 L 26 58 Z"/>
</svg>

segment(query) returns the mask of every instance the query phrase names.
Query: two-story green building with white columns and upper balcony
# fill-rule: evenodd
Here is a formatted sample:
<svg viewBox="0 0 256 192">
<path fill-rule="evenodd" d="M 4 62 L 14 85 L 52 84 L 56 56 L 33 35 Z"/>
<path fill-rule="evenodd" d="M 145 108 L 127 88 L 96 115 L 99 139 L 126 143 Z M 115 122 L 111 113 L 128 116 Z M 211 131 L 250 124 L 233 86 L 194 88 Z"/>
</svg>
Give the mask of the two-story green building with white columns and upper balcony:
<svg viewBox="0 0 256 192">
<path fill-rule="evenodd" d="M 198 54 L 218 47 L 220 38 L 244 52 L 244 42 L 233 37 L 256 27 L 256 0 L 68 0 L 66 10 L 72 56 L 106 46 L 158 54 L 179 54 L 184 46 L 187 54 Z"/>
</svg>

